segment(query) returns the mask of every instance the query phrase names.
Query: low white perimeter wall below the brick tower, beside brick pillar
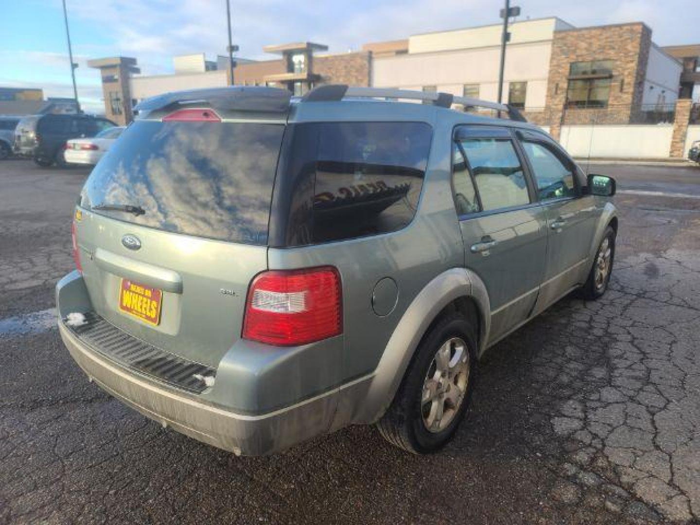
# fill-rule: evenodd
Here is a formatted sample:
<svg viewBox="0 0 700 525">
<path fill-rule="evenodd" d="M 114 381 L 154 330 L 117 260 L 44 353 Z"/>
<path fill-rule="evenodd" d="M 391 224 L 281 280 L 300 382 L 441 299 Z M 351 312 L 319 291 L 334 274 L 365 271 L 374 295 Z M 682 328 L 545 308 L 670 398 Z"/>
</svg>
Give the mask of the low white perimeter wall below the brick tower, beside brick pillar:
<svg viewBox="0 0 700 525">
<path fill-rule="evenodd" d="M 668 158 L 673 125 L 568 125 L 559 143 L 577 158 Z"/>
</svg>

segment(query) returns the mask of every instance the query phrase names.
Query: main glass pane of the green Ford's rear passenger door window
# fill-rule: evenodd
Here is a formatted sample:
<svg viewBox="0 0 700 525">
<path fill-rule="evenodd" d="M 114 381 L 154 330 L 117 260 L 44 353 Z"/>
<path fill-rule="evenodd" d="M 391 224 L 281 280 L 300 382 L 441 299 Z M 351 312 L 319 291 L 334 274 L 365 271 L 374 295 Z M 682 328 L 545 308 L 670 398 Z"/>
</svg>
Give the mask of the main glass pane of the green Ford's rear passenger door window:
<svg viewBox="0 0 700 525">
<path fill-rule="evenodd" d="M 510 139 L 463 139 L 484 211 L 530 203 L 527 181 Z"/>
</svg>

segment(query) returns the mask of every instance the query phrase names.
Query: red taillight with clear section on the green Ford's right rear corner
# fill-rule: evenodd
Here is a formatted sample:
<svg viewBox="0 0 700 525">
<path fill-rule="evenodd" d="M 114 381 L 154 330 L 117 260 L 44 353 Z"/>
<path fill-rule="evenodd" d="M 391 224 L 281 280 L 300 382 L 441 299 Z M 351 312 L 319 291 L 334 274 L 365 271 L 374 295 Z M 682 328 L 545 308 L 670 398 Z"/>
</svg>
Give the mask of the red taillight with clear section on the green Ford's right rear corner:
<svg viewBox="0 0 700 525">
<path fill-rule="evenodd" d="M 244 339 L 293 346 L 342 331 L 342 288 L 334 267 L 263 272 L 253 279 Z"/>
</svg>

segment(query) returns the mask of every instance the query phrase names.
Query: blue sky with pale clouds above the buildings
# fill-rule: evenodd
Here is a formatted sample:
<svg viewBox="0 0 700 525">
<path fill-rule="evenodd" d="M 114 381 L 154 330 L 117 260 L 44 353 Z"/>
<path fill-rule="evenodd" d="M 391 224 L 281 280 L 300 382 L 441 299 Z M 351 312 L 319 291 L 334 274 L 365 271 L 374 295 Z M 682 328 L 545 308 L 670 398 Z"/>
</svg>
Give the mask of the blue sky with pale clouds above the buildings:
<svg viewBox="0 0 700 525">
<path fill-rule="evenodd" d="M 522 15 L 559 16 L 577 27 L 641 20 L 659 45 L 700 43 L 698 0 L 515 0 Z M 43 87 L 72 95 L 61 0 L 3 0 L 0 86 Z M 501 0 L 231 0 L 241 57 L 265 58 L 262 45 L 310 40 L 331 52 L 409 34 L 498 22 Z M 147 74 L 172 71 L 172 56 L 226 46 L 225 0 L 67 0 L 78 94 L 101 111 L 99 73 L 85 60 L 136 57 Z"/>
</svg>

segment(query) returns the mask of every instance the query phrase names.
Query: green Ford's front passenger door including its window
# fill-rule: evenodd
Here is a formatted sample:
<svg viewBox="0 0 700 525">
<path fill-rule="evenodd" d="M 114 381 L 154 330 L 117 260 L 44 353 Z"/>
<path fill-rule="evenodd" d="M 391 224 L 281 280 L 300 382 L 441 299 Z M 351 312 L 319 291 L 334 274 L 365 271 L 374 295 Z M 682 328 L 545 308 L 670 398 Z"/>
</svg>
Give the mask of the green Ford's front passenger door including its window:
<svg viewBox="0 0 700 525">
<path fill-rule="evenodd" d="M 593 197 L 582 194 L 573 160 L 554 141 L 537 132 L 517 135 L 547 214 L 547 269 L 536 314 L 585 279 L 597 212 Z"/>
</svg>

